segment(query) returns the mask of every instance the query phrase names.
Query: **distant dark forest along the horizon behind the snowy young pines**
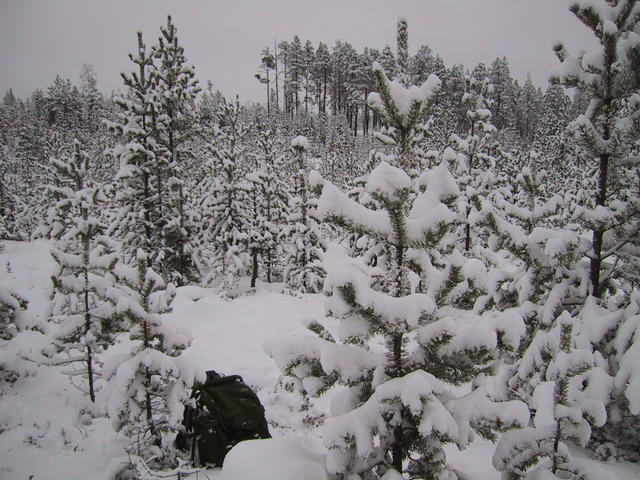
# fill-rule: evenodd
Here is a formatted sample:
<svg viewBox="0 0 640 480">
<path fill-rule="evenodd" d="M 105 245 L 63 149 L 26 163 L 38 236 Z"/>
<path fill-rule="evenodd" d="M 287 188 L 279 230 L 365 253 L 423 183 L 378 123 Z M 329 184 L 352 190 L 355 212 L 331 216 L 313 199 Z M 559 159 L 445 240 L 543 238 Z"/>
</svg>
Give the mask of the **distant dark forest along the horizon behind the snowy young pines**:
<svg viewBox="0 0 640 480">
<path fill-rule="evenodd" d="M 357 52 L 342 41 L 333 48 L 324 43 L 314 47 L 296 36 L 290 42 L 280 42 L 275 51 L 265 47 L 257 56 L 256 78 L 265 85 L 265 102 L 244 105 L 241 119 L 253 127 L 244 140 L 253 147 L 253 154 L 258 151 L 258 127 L 268 119 L 273 138 L 280 139 L 276 154 L 286 151 L 287 136 L 304 134 L 311 141 L 311 156 L 322 160 L 321 168 L 330 171 L 338 183 L 363 173 L 371 134 L 380 127 L 367 104 L 367 96 L 375 90 L 372 65 L 377 61 L 387 75 L 395 76 L 398 66 L 393 49 L 387 46 L 382 52 L 369 48 Z M 580 90 L 567 92 L 553 84 L 542 90 L 530 78 L 521 85 L 511 77 L 504 57 L 491 65 L 447 67 L 437 53 L 423 45 L 409 59 L 411 83 L 419 85 L 431 73 L 438 75 L 443 87 L 422 144 L 425 151 L 442 151 L 450 144 L 451 134 L 466 132 L 469 120 L 463 97 L 473 79 L 492 86 L 486 101 L 496 128 L 492 140 L 500 156 L 498 168 L 526 166 L 532 155 L 536 164 L 552 171 L 579 163 L 580 152 L 571 151 L 575 142 L 567 138 L 566 127 L 588 103 Z M 36 234 L 46 210 L 45 186 L 54 180 L 49 159 L 69 155 L 73 139 L 78 139 L 94 159 L 92 177 L 96 181 L 111 182 L 119 168 L 112 149 L 122 138 L 108 128 L 108 121 L 115 120 L 121 108 L 116 101 L 119 94 L 103 95 L 90 65 L 83 67 L 78 80 L 56 77 L 46 90 L 36 90 L 24 99 L 16 98 L 11 90 L 4 95 L 0 111 L 3 238 L 29 239 Z M 215 136 L 224 101 L 213 85 L 209 83 L 189 100 L 191 118 L 181 145 L 184 151 L 193 152 L 191 160 L 200 166 L 207 156 L 203 152 Z M 241 161 L 249 156 L 243 155 Z M 197 170 L 185 169 L 193 175 L 189 182 L 199 181 Z"/>
</svg>

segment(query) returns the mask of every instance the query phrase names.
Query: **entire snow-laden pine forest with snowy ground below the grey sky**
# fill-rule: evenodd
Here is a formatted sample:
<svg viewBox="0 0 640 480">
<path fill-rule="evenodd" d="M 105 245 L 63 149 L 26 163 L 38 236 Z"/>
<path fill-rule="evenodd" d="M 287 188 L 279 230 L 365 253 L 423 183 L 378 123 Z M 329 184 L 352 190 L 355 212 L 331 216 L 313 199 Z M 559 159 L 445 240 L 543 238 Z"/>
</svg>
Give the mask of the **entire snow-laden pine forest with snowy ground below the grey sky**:
<svg viewBox="0 0 640 480">
<path fill-rule="evenodd" d="M 120 91 L 90 65 L 8 90 L 0 450 L 93 448 L 109 479 L 637 478 L 640 2 L 570 10 L 598 47 L 555 45 L 544 89 L 506 57 L 410 55 L 401 18 L 395 49 L 265 46 L 246 103 L 200 84 L 168 16 Z M 200 468 L 175 438 L 221 368 L 202 356 L 250 334 L 265 360 L 229 368 L 274 438 Z M 55 428 L 16 409 L 47 377 Z"/>
</svg>

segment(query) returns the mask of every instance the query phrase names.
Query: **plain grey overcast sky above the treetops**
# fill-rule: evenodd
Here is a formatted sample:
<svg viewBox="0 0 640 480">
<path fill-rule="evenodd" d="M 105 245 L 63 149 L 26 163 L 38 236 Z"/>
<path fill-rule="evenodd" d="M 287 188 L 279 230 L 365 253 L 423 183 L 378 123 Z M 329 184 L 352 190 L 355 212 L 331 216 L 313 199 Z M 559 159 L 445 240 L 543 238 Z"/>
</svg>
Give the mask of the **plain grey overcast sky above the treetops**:
<svg viewBox="0 0 640 480">
<path fill-rule="evenodd" d="M 166 15 L 198 78 L 225 95 L 262 100 L 253 77 L 260 50 L 298 34 L 317 47 L 337 39 L 395 50 L 399 16 L 409 22 L 409 49 L 429 45 L 447 66 L 491 63 L 507 56 L 512 75 L 527 72 L 546 85 L 558 60 L 553 43 L 574 51 L 593 45 L 566 0 L 0 0 L 0 92 L 24 97 L 46 88 L 56 74 L 79 83 L 83 63 L 95 66 L 103 92 L 121 88 L 119 72 L 130 71 L 127 54 L 136 31 L 151 45 Z"/>
</svg>

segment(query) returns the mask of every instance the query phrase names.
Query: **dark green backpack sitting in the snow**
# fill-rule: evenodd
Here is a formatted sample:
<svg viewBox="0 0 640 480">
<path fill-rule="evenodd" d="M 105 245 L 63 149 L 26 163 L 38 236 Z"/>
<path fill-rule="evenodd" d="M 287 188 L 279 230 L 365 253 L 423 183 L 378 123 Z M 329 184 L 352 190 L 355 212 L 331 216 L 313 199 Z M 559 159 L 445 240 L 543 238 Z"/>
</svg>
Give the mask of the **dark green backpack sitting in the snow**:
<svg viewBox="0 0 640 480">
<path fill-rule="evenodd" d="M 270 438 L 264 407 L 239 375 L 223 377 L 207 372 L 207 380 L 193 388 L 195 407 L 184 410 L 184 432 L 176 446 L 190 451 L 194 465 L 222 466 L 236 443 Z"/>
</svg>

